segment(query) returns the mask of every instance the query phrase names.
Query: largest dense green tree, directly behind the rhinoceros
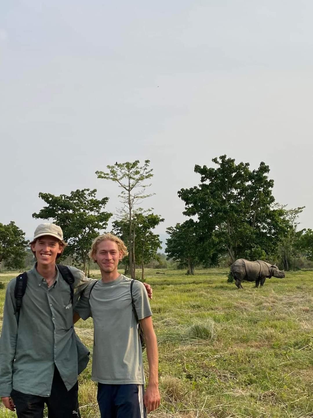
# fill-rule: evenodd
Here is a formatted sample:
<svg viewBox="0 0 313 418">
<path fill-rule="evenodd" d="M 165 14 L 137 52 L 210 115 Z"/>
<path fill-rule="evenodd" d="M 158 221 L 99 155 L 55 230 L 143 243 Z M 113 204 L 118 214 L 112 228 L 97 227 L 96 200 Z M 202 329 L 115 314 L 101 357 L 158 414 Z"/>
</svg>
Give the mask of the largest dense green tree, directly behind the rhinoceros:
<svg viewBox="0 0 313 418">
<path fill-rule="evenodd" d="M 212 160 L 218 167 L 196 165 L 201 184 L 178 191 L 186 216 L 197 216 L 202 233 L 228 252 L 232 262 L 274 257 L 286 231 L 282 209 L 273 209 L 270 168 L 261 162 L 250 171 L 249 163 L 235 164 L 226 155 Z"/>
</svg>

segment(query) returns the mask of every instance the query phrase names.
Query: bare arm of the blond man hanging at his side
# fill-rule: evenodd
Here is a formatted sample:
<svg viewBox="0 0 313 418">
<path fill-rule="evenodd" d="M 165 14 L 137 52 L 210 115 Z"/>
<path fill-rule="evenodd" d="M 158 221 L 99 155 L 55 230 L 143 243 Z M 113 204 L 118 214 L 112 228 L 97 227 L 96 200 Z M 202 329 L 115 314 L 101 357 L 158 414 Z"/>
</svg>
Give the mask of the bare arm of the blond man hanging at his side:
<svg viewBox="0 0 313 418">
<path fill-rule="evenodd" d="M 144 404 L 147 413 L 154 411 L 160 405 L 159 393 L 159 375 L 158 375 L 158 345 L 156 335 L 153 329 L 152 317 L 147 316 L 140 320 L 142 330 L 144 331 L 144 341 L 146 343 L 147 359 L 149 364 L 149 381 L 144 393 Z"/>
</svg>

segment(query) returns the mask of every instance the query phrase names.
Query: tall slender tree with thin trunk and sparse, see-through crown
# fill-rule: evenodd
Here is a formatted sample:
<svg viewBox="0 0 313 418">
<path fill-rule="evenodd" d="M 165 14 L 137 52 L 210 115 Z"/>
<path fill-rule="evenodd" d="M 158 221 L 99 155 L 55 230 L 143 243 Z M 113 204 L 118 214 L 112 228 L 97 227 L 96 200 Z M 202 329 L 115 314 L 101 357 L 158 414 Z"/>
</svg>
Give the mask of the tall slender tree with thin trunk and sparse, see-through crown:
<svg viewBox="0 0 313 418">
<path fill-rule="evenodd" d="M 145 160 L 143 166 L 139 166 L 139 160 L 133 163 L 115 163 L 114 166 L 106 166 L 109 172 L 96 171 L 98 178 L 111 180 L 119 184 L 122 189 L 119 197 L 122 199 L 124 208 L 126 208 L 129 219 L 129 268 L 131 278 L 136 277 L 136 258 L 135 258 L 135 240 L 133 212 L 134 205 L 142 199 L 152 196 L 152 194 L 144 194 L 146 187 L 151 184 L 145 184 L 145 181 L 153 177 L 153 169 L 149 168 L 150 161 Z"/>
</svg>

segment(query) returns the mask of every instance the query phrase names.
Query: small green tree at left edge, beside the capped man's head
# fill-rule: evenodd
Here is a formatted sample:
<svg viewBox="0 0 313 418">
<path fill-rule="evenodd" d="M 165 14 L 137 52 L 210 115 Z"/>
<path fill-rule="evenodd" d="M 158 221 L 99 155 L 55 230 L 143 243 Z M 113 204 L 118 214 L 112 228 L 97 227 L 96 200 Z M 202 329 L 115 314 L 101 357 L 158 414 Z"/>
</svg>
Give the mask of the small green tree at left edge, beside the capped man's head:
<svg viewBox="0 0 313 418">
<path fill-rule="evenodd" d="M 0 273 L 3 261 L 8 268 L 24 267 L 28 243 L 25 232 L 15 222 L 11 221 L 8 225 L 0 223 Z"/>
</svg>

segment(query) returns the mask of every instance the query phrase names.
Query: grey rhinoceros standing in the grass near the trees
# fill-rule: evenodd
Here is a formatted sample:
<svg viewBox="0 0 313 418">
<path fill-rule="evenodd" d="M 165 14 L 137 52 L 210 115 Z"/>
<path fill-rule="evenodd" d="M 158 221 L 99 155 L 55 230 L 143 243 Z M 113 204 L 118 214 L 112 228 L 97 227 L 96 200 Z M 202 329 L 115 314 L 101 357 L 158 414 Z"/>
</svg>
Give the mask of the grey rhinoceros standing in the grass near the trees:
<svg viewBox="0 0 313 418">
<path fill-rule="evenodd" d="M 285 273 L 278 270 L 277 265 L 272 265 L 262 260 L 248 261 L 244 258 L 239 258 L 230 266 L 230 273 L 234 276 L 238 289 L 243 289 L 241 285 L 243 280 L 255 282 L 255 287 L 257 288 L 259 284 L 261 284 L 261 286 L 264 285 L 267 277 L 285 277 Z"/>
</svg>

